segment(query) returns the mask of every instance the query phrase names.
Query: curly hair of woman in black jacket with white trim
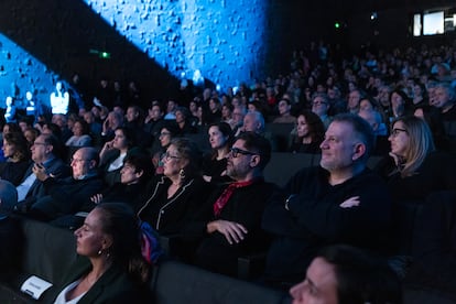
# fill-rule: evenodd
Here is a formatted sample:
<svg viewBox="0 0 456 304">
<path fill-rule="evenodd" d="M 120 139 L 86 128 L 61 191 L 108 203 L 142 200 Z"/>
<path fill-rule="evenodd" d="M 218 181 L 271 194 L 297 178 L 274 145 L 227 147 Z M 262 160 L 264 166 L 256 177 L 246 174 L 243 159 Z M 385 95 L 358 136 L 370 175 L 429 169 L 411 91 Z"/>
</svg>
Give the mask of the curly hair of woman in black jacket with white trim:
<svg viewBox="0 0 456 304">
<path fill-rule="evenodd" d="M 184 167 L 186 180 L 200 175 L 203 156 L 196 142 L 187 138 L 175 138 L 171 140 L 170 145 L 176 148 L 181 158 L 188 160 Z"/>
</svg>

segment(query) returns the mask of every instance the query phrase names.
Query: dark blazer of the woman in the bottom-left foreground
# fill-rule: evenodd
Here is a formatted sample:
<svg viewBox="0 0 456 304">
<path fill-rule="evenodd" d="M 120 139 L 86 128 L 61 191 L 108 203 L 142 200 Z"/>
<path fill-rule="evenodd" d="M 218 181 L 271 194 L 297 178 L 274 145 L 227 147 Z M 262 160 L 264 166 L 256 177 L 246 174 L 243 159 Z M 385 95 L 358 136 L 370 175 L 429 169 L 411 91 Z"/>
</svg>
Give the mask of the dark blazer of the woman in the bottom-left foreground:
<svg viewBox="0 0 456 304">
<path fill-rule="evenodd" d="M 65 276 L 55 296 L 70 283 L 79 280 L 91 270 L 87 258 L 79 257 Z M 145 292 L 119 265 L 112 264 L 90 290 L 79 300 L 79 304 L 89 303 L 150 303 Z"/>
</svg>

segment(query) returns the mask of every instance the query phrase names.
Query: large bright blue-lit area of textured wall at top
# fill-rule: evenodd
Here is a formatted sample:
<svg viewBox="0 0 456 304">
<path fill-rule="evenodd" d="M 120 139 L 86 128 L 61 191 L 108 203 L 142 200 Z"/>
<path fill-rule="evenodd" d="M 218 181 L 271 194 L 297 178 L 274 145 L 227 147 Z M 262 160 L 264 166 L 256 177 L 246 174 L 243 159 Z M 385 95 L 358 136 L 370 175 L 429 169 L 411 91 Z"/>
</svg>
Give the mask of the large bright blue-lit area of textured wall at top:
<svg viewBox="0 0 456 304">
<path fill-rule="evenodd" d="M 263 76 L 265 0 L 83 1 L 176 77 L 226 88 Z"/>
</svg>

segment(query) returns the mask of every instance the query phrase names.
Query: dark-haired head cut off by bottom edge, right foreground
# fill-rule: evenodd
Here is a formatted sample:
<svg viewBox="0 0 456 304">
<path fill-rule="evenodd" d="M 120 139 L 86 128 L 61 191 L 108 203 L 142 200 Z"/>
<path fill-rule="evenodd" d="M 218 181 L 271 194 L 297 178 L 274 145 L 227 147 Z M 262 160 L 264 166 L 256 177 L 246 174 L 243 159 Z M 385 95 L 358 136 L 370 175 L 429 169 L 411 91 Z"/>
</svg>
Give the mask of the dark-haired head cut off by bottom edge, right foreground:
<svg viewBox="0 0 456 304">
<path fill-rule="evenodd" d="M 290 294 L 294 304 L 402 303 L 400 281 L 388 264 L 349 246 L 323 249 Z"/>
</svg>

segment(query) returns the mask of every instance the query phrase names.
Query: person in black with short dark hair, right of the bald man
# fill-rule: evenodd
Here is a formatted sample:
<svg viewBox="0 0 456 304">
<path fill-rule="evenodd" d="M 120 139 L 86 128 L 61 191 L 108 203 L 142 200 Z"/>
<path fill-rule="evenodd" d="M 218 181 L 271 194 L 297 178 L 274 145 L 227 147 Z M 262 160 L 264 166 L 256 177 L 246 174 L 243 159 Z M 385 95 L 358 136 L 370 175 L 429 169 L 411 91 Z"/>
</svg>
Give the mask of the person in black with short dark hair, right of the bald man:
<svg viewBox="0 0 456 304">
<path fill-rule="evenodd" d="M 116 183 L 104 192 L 90 197 L 95 204 L 123 202 L 133 210 L 138 210 L 142 192 L 149 177 L 153 175 L 152 160 L 146 153 L 134 153 L 123 160 L 120 170 L 120 183 Z"/>
</svg>

